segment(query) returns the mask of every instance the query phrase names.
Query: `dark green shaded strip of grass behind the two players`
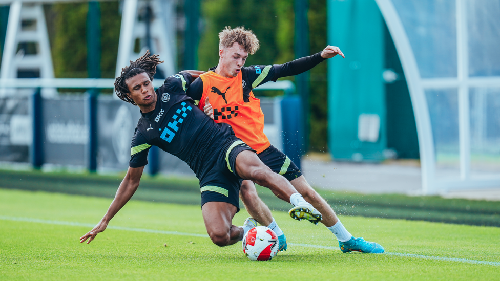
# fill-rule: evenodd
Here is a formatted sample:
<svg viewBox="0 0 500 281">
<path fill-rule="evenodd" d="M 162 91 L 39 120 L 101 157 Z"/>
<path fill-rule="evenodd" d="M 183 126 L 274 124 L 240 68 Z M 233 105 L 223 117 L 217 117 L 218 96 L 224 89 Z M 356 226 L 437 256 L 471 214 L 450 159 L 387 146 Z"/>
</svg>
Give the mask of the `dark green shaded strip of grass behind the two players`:
<svg viewBox="0 0 500 281">
<path fill-rule="evenodd" d="M 0 187 L 113 198 L 123 176 L 0 170 Z M 257 186 L 257 191 L 270 209 L 288 211 L 289 203 L 275 197 L 269 189 Z M 438 196 L 318 192 L 342 215 L 500 227 L 500 202 Z M 200 190 L 196 179 L 145 176 L 133 199 L 198 205 Z"/>
</svg>

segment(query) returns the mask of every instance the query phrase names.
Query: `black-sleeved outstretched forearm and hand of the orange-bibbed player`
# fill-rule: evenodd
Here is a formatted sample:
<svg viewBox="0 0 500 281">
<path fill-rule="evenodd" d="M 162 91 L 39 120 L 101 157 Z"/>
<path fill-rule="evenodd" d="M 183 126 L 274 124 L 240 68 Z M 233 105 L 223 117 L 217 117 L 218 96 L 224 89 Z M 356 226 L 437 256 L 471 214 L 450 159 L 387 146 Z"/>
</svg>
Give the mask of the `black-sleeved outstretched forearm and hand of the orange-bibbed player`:
<svg viewBox="0 0 500 281">
<path fill-rule="evenodd" d="M 327 58 L 332 58 L 336 55 L 341 55 L 342 57 L 345 57 L 342 51 L 340 51 L 339 47 L 328 45 L 323 51 L 317 54 L 298 58 L 296 60 L 281 64 L 279 73 L 277 74 L 276 78 L 301 74 L 303 72 L 310 70 L 311 68 L 314 68 L 323 60 Z"/>
</svg>

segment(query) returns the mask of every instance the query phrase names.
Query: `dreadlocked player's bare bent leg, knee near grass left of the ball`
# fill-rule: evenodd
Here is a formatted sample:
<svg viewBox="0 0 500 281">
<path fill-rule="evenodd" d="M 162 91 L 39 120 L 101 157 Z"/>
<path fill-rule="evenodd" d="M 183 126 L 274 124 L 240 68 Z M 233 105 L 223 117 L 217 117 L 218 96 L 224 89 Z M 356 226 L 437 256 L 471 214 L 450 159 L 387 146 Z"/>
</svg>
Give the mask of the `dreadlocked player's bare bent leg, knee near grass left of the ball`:
<svg viewBox="0 0 500 281">
<path fill-rule="evenodd" d="M 226 202 L 207 202 L 201 207 L 206 232 L 215 245 L 233 245 L 243 239 L 243 228 L 232 224 L 236 211 L 236 206 Z"/>
</svg>

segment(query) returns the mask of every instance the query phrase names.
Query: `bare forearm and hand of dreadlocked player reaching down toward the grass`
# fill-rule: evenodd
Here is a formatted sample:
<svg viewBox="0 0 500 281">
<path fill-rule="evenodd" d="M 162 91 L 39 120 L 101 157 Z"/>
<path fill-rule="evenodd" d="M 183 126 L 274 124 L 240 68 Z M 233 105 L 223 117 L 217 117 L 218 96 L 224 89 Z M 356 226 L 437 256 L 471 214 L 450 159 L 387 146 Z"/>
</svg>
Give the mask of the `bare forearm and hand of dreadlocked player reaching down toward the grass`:
<svg viewBox="0 0 500 281">
<path fill-rule="evenodd" d="M 89 244 L 92 240 L 94 240 L 97 233 L 102 232 L 108 226 L 110 220 L 115 216 L 115 214 L 125 205 L 134 195 L 137 187 L 139 186 L 139 181 L 142 176 L 142 170 L 144 166 L 139 168 L 131 168 L 127 170 L 127 175 L 118 187 L 118 190 L 115 194 L 115 199 L 111 202 L 108 211 L 102 217 L 100 222 L 92 228 L 91 231 L 87 232 L 85 235 L 80 237 L 80 243 L 84 243 L 87 239 L 87 244 Z"/>
</svg>

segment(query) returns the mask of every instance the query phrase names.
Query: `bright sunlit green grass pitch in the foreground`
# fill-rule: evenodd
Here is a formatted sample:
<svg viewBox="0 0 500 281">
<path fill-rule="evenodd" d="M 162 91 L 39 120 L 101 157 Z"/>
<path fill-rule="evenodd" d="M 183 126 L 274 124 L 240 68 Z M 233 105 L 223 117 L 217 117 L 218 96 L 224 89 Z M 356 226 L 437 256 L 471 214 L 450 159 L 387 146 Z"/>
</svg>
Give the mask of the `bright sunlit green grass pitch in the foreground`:
<svg viewBox="0 0 500 281">
<path fill-rule="evenodd" d="M 497 227 L 342 216 L 353 235 L 386 250 L 344 254 L 321 224 L 274 212 L 288 250 L 252 262 L 240 243 L 212 244 L 199 206 L 131 201 L 80 244 L 110 203 L 0 189 L 0 280 L 500 280 Z M 246 217 L 242 209 L 233 224 Z"/>
</svg>

